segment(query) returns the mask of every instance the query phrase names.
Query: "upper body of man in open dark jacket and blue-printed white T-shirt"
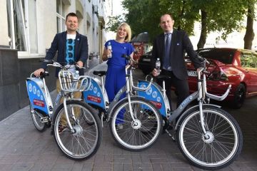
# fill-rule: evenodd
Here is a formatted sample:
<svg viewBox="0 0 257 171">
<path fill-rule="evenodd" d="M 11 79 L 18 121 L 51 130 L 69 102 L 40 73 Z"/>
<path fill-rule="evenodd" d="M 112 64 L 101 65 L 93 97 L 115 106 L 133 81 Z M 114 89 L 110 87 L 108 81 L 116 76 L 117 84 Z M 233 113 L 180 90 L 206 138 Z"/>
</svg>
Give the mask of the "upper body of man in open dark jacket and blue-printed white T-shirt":
<svg viewBox="0 0 257 171">
<path fill-rule="evenodd" d="M 56 51 L 58 51 L 56 61 L 62 65 L 76 62 L 77 65 L 84 66 L 89 56 L 89 44 L 86 36 L 76 31 L 79 27 L 78 16 L 75 13 L 67 14 L 65 24 L 67 31 L 56 34 L 45 59 L 53 59 Z M 46 64 L 42 63 L 41 68 L 34 71 L 34 75 L 39 76 L 40 73 L 44 72 Z M 56 76 L 58 76 L 59 70 L 60 68 L 56 68 Z M 80 69 L 79 74 L 84 75 L 84 70 Z"/>
</svg>

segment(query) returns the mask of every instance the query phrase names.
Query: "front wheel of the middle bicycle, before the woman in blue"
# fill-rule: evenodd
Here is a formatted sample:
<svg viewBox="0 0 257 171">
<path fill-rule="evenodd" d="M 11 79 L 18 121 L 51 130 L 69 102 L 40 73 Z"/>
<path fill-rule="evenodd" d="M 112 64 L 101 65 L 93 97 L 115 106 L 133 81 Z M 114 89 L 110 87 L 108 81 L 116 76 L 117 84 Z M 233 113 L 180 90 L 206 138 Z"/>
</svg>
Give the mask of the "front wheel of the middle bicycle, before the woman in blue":
<svg viewBox="0 0 257 171">
<path fill-rule="evenodd" d="M 133 122 L 128 112 L 128 99 L 123 99 L 116 105 L 109 125 L 111 135 L 126 150 L 145 150 L 158 140 L 163 127 L 161 114 L 155 105 L 141 97 L 131 97 L 131 107 L 135 114 L 140 114 L 134 115 L 136 122 Z M 120 112 L 123 114 L 119 114 Z M 117 118 L 118 115 L 123 115 L 124 118 Z M 118 121 L 123 125 L 122 130 L 118 130 Z"/>
</svg>

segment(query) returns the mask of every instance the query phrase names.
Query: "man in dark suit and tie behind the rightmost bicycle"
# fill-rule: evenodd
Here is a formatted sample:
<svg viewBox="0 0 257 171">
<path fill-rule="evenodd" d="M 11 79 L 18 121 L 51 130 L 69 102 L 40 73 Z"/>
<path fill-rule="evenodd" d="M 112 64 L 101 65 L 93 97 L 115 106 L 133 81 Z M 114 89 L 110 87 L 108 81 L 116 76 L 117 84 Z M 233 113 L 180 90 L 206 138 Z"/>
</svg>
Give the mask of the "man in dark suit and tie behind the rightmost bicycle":
<svg viewBox="0 0 257 171">
<path fill-rule="evenodd" d="M 173 29 L 174 20 L 169 14 L 161 16 L 161 33 L 153 41 L 151 66 L 153 76 L 158 76 L 155 68 L 156 59 L 161 61 L 161 75 L 169 76 L 165 80 L 166 95 L 171 105 L 171 86 L 176 88 L 178 95 L 177 107 L 189 95 L 188 73 L 184 61 L 184 52 L 188 54 L 196 68 L 201 67 L 197 53 L 193 51 L 193 45 L 185 31 Z M 158 84 L 162 84 L 158 81 Z M 172 109 L 172 108 L 171 108 Z"/>
</svg>

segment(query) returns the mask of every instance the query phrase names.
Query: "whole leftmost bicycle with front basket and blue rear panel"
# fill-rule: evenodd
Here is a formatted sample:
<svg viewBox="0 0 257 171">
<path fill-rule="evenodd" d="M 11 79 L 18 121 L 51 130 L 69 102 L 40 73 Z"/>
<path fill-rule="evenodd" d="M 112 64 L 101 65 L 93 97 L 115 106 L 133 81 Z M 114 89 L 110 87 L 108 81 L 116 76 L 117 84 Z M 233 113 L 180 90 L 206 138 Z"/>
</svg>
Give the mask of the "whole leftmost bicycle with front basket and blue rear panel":
<svg viewBox="0 0 257 171">
<path fill-rule="evenodd" d="M 91 79 L 86 76 L 75 78 L 70 71 L 75 66 L 61 66 L 56 62 L 47 66 L 61 68 L 61 92 L 54 105 L 45 81 L 49 73 L 45 72 L 39 78 L 31 73 L 26 79 L 30 113 L 36 130 L 43 132 L 47 127 L 52 127 L 54 139 L 64 155 L 74 160 L 89 158 L 101 144 L 101 121 L 88 104 L 74 99 L 73 93 L 90 88 Z"/>
</svg>

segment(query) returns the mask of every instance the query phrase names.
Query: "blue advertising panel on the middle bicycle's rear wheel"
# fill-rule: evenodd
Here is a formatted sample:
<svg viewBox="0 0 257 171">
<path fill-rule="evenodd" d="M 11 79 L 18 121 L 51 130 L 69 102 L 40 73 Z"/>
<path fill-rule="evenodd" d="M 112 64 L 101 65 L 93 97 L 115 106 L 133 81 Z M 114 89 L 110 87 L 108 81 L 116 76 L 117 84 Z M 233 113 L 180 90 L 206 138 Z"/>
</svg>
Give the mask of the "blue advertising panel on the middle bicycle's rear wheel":
<svg viewBox="0 0 257 171">
<path fill-rule="evenodd" d="M 103 91 L 94 79 L 91 79 L 91 87 L 83 92 L 86 103 L 97 105 L 101 108 L 106 108 Z"/>
</svg>

